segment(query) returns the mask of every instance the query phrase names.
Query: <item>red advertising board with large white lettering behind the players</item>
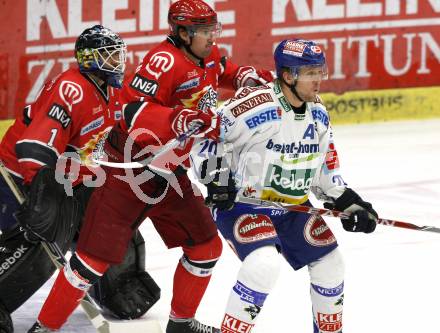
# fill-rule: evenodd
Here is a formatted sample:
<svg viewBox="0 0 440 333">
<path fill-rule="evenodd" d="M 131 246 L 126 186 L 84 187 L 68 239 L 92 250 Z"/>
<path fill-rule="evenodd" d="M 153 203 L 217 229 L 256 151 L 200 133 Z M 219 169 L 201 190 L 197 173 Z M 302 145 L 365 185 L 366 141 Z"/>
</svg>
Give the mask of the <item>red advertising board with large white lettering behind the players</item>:
<svg viewBox="0 0 440 333">
<path fill-rule="evenodd" d="M 285 38 L 317 40 L 330 80 L 323 91 L 440 85 L 440 0 L 210 0 L 218 40 L 236 63 L 272 68 Z M 76 37 L 93 24 L 129 45 L 128 71 L 168 31 L 170 0 L 7 0 L 0 3 L 0 118 L 75 63 Z"/>
</svg>

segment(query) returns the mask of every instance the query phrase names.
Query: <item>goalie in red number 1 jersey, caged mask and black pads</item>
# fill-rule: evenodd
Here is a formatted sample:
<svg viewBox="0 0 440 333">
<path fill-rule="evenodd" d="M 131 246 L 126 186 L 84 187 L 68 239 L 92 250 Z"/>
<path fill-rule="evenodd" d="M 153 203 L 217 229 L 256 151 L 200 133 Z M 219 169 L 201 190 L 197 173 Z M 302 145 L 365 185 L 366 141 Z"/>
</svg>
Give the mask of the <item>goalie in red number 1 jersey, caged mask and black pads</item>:
<svg viewBox="0 0 440 333">
<path fill-rule="evenodd" d="M 1 160 L 28 195 L 28 201 L 19 207 L 0 177 L 0 200 L 4 207 L 0 212 L 0 266 L 7 267 L 0 273 L 1 332 L 13 331 L 9 314 L 38 290 L 55 270 L 42 247 L 25 239 L 13 213 L 19 210 L 22 225 L 35 233 L 27 234 L 27 238 L 56 241 L 67 250 L 79 230 L 93 190 L 82 184 L 83 177 L 94 175 L 94 171 L 85 167 L 90 164 L 87 158 L 97 141 L 108 134 L 121 117 L 119 92 L 126 58 L 124 41 L 111 30 L 97 25 L 78 37 L 75 56 L 78 67 L 63 72 L 43 86 L 36 101 L 18 115 L 0 146 Z M 55 179 L 55 168 L 63 153 L 70 153 L 82 165 L 79 174 L 72 179 L 73 197 L 66 196 L 63 186 Z M 143 244 L 140 235 L 136 234 L 130 242 L 131 259 L 127 256 L 124 265 L 112 267 L 99 286 L 100 294 L 95 295 L 101 306 L 120 318 L 137 317 L 147 311 L 147 299 L 136 299 L 137 292 L 145 289 L 140 286 L 145 280 L 139 272 L 143 271 L 143 264 L 139 264 L 139 268 L 137 262 L 143 259 Z M 15 259 L 13 265 L 5 266 L 11 262 L 11 257 Z M 124 281 L 120 280 L 121 274 Z M 133 294 L 125 293 L 124 283 L 132 288 Z"/>
</svg>

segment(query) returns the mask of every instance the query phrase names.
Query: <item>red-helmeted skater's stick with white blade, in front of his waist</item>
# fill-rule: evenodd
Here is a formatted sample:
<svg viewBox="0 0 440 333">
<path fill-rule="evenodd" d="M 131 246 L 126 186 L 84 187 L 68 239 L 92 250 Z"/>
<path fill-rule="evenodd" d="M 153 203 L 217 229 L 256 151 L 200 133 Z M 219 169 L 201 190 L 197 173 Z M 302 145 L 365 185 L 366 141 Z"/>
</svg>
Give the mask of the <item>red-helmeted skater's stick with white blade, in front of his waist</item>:
<svg viewBox="0 0 440 333">
<path fill-rule="evenodd" d="M 108 162 L 103 161 L 101 159 L 92 158 L 92 161 L 99 165 L 108 166 L 111 168 L 119 168 L 119 169 L 138 169 L 138 168 L 144 168 L 148 164 L 150 164 L 155 158 L 158 158 L 159 156 L 163 155 L 164 153 L 176 148 L 179 144 L 187 140 L 190 136 L 197 133 L 198 130 L 200 130 L 201 126 L 194 126 L 187 132 L 179 135 L 177 138 L 174 138 L 170 141 L 168 141 L 166 144 L 164 144 L 161 148 L 159 148 L 157 151 L 154 152 L 154 155 L 151 155 L 150 157 L 146 158 L 145 160 L 138 161 L 138 162 Z"/>
</svg>

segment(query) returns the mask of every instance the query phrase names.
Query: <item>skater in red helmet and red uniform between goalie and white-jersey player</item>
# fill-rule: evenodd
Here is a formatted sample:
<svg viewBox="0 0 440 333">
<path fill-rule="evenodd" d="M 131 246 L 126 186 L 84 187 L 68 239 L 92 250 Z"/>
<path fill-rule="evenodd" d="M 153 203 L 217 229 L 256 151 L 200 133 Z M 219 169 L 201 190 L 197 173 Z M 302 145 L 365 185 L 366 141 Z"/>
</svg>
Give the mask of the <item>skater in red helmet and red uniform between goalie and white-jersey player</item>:
<svg viewBox="0 0 440 333">
<path fill-rule="evenodd" d="M 168 21 L 168 38 L 150 50 L 137 72 L 124 82 L 122 94 L 128 104 L 105 144 L 113 162 L 124 161 L 128 139 L 134 141 L 131 156 L 135 156 L 148 146 L 181 137 L 194 124 L 201 126 L 199 136 L 216 137 L 218 121 L 211 109 L 217 106 L 217 88 L 237 89 L 272 80 L 268 71 L 239 67 L 220 56 L 215 41 L 221 26 L 217 14 L 203 1 L 175 2 Z M 59 328 L 88 286 L 110 263 L 121 261 L 131 234 L 149 217 L 169 248 L 183 249 L 174 274 L 166 332 L 219 332 L 194 318 L 222 243 L 209 210 L 202 197 L 193 193 L 193 184 L 186 175 L 192 140 L 174 149 L 174 159 L 167 165 L 155 165 L 154 169 L 150 166 L 150 170 L 162 171 L 161 175 L 171 174 L 178 186 L 170 186 L 166 177 L 156 174 L 139 185 L 151 199 L 147 202 L 132 190 L 133 184 L 123 179 L 128 170 L 106 168 L 106 181 L 95 190 L 87 208 L 77 251 L 59 274 L 37 326 Z"/>
</svg>

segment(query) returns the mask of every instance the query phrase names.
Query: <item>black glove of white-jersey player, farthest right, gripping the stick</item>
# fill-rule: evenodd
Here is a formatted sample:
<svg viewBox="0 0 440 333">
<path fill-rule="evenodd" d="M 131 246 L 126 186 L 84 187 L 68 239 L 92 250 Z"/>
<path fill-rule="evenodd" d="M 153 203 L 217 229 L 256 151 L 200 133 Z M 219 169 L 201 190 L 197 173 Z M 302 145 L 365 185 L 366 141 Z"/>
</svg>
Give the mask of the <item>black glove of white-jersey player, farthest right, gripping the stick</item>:
<svg viewBox="0 0 440 333">
<path fill-rule="evenodd" d="M 352 189 L 347 188 L 334 203 L 326 202 L 324 207 L 350 213 L 348 219 L 341 219 L 346 231 L 371 233 L 376 229 L 378 215 L 371 203 L 363 201 Z"/>
</svg>

